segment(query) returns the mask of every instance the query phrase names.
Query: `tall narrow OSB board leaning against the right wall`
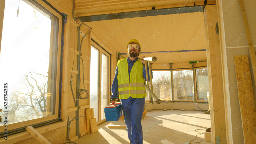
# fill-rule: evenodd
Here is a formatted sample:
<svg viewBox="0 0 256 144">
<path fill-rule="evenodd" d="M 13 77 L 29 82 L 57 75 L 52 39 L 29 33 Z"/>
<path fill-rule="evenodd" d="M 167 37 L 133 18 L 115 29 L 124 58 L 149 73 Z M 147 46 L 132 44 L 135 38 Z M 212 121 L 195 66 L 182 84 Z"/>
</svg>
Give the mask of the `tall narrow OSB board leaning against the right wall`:
<svg viewBox="0 0 256 144">
<path fill-rule="evenodd" d="M 245 143 L 256 143 L 256 108 L 248 56 L 234 56 Z"/>
</svg>

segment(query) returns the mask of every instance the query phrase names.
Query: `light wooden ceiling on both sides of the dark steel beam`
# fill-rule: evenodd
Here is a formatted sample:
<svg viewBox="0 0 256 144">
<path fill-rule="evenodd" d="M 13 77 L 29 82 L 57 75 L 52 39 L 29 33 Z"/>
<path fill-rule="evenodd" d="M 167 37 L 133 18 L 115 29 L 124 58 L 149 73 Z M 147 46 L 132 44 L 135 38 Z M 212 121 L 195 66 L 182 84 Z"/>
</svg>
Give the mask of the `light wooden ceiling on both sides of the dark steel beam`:
<svg viewBox="0 0 256 144">
<path fill-rule="evenodd" d="M 93 15 L 111 10 L 198 2 L 204 0 L 75 0 L 75 14 Z M 154 63 L 206 60 L 206 51 L 181 52 L 206 49 L 203 12 L 92 21 L 85 24 L 92 27 L 92 32 L 99 40 L 114 52 L 126 53 L 127 42 L 137 39 L 142 46 L 141 52 L 156 52 L 141 53 L 139 57 L 155 56 L 157 61 Z M 127 57 L 126 54 L 123 56 Z"/>
</svg>

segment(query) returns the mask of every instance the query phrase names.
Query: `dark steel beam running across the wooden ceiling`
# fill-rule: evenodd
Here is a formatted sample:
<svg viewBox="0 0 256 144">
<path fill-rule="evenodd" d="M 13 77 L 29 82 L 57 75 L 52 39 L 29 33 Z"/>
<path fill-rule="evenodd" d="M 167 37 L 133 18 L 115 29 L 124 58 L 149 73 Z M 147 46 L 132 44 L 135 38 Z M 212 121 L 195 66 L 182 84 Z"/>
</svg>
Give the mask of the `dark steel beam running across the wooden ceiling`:
<svg viewBox="0 0 256 144">
<path fill-rule="evenodd" d="M 140 10 L 79 17 L 82 22 L 203 12 L 206 5 Z"/>
</svg>

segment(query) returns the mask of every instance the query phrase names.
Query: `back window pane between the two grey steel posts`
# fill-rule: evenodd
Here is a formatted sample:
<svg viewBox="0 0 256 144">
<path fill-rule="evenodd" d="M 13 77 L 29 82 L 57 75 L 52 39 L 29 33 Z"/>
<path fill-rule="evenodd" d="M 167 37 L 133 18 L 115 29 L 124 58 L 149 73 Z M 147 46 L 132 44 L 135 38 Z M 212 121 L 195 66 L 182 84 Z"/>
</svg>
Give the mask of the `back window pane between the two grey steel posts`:
<svg viewBox="0 0 256 144">
<path fill-rule="evenodd" d="M 192 70 L 173 71 L 174 100 L 193 100 Z"/>
</svg>

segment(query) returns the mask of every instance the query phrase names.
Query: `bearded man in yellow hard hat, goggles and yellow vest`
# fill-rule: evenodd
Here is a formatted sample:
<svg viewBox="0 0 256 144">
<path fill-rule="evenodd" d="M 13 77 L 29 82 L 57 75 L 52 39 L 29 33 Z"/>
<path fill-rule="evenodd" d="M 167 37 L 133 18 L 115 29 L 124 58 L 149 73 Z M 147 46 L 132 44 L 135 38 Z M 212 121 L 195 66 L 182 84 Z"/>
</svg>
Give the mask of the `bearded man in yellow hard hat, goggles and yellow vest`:
<svg viewBox="0 0 256 144">
<path fill-rule="evenodd" d="M 132 144 L 143 143 L 141 119 L 147 94 L 144 86 L 146 70 L 143 58 L 145 57 L 138 58 L 140 52 L 141 46 L 136 39 L 127 43 L 129 57 L 118 61 L 112 83 L 111 103 L 114 105 L 119 95 L 128 138 Z M 148 79 L 150 79 L 149 69 L 147 70 Z"/>
</svg>

